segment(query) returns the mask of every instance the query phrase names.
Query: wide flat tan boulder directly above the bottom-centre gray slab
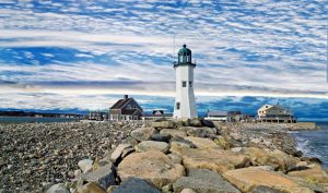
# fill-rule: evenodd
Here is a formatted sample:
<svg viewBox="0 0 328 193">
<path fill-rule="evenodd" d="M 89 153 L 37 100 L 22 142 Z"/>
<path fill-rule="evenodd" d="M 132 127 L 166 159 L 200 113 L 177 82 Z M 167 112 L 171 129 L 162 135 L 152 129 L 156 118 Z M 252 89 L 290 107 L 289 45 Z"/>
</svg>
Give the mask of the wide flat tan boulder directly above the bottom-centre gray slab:
<svg viewBox="0 0 328 193">
<path fill-rule="evenodd" d="M 200 168 L 223 173 L 249 164 L 247 156 L 219 148 L 171 147 L 169 152 L 180 155 L 187 169 Z"/>
</svg>

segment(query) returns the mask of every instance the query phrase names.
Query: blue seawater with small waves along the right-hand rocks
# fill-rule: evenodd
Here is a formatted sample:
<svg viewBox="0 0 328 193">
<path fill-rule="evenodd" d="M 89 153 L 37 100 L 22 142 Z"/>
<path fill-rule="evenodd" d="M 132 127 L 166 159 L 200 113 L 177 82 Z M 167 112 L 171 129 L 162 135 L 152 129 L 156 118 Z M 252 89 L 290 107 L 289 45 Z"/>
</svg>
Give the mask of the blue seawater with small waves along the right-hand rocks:
<svg viewBox="0 0 328 193">
<path fill-rule="evenodd" d="M 297 149 L 305 156 L 317 157 L 328 168 L 328 122 L 316 123 L 321 128 L 317 131 L 292 132 L 296 136 Z"/>
</svg>

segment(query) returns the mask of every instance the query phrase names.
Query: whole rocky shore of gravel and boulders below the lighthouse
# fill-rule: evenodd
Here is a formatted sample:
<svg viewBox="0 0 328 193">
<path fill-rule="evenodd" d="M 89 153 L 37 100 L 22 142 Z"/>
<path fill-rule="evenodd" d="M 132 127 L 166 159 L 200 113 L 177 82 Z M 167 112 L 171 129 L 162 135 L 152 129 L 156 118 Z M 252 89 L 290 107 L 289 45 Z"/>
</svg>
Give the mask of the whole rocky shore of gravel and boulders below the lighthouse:
<svg viewBox="0 0 328 193">
<path fill-rule="evenodd" d="M 2 192 L 328 191 L 320 161 L 274 124 L 26 123 L 0 134 Z"/>
</svg>

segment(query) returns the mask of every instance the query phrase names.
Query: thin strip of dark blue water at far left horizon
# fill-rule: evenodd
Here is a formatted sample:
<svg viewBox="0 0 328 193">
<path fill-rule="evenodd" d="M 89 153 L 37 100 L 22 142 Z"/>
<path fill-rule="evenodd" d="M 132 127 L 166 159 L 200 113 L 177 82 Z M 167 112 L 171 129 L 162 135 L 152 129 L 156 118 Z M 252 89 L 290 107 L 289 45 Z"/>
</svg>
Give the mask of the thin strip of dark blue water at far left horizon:
<svg viewBox="0 0 328 193">
<path fill-rule="evenodd" d="M 22 122 L 71 122 L 74 119 L 66 118 L 34 118 L 34 117 L 0 117 L 0 123 L 22 123 Z"/>
</svg>

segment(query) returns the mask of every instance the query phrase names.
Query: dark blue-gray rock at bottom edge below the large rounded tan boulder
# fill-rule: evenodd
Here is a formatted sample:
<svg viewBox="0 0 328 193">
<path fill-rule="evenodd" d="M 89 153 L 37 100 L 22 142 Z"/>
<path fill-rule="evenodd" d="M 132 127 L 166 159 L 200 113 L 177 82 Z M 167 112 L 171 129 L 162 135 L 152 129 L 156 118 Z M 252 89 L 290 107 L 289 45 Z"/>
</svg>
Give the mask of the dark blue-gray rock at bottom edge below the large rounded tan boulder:
<svg viewBox="0 0 328 193">
<path fill-rule="evenodd" d="M 150 185 L 145 180 L 130 178 L 122 182 L 113 193 L 161 193 L 157 189 Z"/>
</svg>

